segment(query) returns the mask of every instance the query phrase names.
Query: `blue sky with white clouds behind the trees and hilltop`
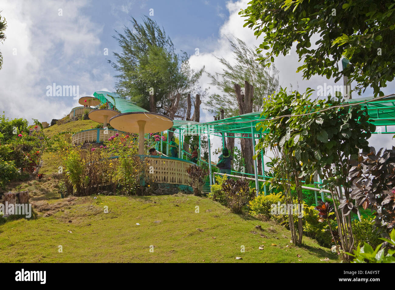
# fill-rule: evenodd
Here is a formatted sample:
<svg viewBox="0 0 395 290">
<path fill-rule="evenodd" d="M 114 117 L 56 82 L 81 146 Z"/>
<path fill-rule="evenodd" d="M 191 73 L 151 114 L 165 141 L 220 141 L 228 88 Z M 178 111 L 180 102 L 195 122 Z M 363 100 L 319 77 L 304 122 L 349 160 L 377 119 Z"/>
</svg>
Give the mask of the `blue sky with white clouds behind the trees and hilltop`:
<svg viewBox="0 0 395 290">
<path fill-rule="evenodd" d="M 73 96 L 48 95 L 49 87 L 56 85 L 78 88 L 79 96 L 93 95 L 95 91 L 115 91 L 116 71 L 107 62 L 114 60 L 113 52 L 120 52 L 113 38 L 116 31 L 130 25 L 131 17 L 140 20 L 149 15 L 164 28 L 175 49 L 190 55 L 193 69 L 205 66 L 206 72 L 221 72 L 215 56 L 233 60 L 226 37 L 238 37 L 248 45 L 258 46 L 249 28 L 243 28 L 238 15 L 248 0 L 2 0 L 1 15 L 6 18 L 7 39 L 0 43 L 3 67 L 0 70 L 0 112 L 9 118 L 32 118 L 50 123 L 77 107 Z M 314 43 L 315 41 L 311 41 Z M 195 55 L 196 49 L 199 55 Z M 108 53 L 107 53 L 108 52 Z M 313 76 L 303 80 L 296 73 L 298 62 L 295 48 L 287 56 L 275 58 L 280 86 L 299 91 L 310 87 L 334 85 L 334 80 Z M 203 74 L 201 87 L 209 87 L 209 78 Z M 383 89 L 394 92 L 395 83 Z M 209 93 L 220 93 L 211 87 Z M 367 89 L 361 97 L 368 97 Z M 353 98 L 359 97 L 353 95 Z M 203 100 L 204 101 L 204 100 Z M 201 122 L 213 121 L 213 114 L 201 107 Z M 382 131 L 385 131 L 384 129 Z M 392 130 L 395 131 L 395 130 Z M 369 144 L 376 148 L 391 148 L 392 135 L 374 135 Z M 214 138 L 213 149 L 222 141 Z"/>
</svg>

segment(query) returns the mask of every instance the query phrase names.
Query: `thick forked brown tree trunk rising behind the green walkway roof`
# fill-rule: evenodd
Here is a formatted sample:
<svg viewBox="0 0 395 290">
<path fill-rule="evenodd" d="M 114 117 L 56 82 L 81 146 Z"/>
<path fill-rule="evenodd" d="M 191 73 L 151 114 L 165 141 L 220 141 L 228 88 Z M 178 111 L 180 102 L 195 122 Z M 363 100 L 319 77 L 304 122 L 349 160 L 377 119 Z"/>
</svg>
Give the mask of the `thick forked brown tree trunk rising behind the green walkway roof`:
<svg viewBox="0 0 395 290">
<path fill-rule="evenodd" d="M 245 95 L 241 94 L 241 87 L 239 84 L 234 85 L 237 103 L 239 104 L 239 114 L 247 114 L 252 112 L 252 99 L 254 98 L 254 87 L 250 85 L 246 80 L 244 81 L 244 91 Z M 245 172 L 246 173 L 254 173 L 254 161 L 252 156 L 254 156 L 252 152 L 252 139 L 251 134 L 241 134 L 241 137 L 250 137 L 250 138 L 241 138 L 241 153 L 245 160 Z"/>
</svg>

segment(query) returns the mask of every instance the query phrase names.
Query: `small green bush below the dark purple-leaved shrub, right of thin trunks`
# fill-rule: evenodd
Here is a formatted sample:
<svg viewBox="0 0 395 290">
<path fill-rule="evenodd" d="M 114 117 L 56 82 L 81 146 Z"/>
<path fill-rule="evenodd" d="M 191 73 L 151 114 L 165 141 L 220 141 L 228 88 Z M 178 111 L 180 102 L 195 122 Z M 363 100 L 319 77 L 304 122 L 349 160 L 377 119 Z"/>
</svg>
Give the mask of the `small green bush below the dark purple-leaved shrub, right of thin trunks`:
<svg viewBox="0 0 395 290">
<path fill-rule="evenodd" d="M 361 221 L 354 221 L 352 233 L 354 234 L 354 245 L 358 247 L 368 243 L 371 247 L 376 248 L 380 243 L 380 234 L 374 230 L 374 219 L 370 217 L 361 217 Z"/>
</svg>

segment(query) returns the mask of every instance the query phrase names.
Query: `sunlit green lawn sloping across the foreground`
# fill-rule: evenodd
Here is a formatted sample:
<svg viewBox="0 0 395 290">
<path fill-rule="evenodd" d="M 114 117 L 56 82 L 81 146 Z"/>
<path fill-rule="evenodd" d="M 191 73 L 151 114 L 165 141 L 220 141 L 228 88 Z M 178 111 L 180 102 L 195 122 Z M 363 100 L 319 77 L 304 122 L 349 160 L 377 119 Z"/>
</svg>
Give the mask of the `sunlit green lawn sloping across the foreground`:
<svg viewBox="0 0 395 290">
<path fill-rule="evenodd" d="M 312 239 L 303 237 L 303 247 L 295 247 L 286 228 L 230 213 L 204 197 L 87 196 L 32 203 L 40 210 L 38 219 L 0 226 L 0 262 L 338 262 Z"/>
</svg>

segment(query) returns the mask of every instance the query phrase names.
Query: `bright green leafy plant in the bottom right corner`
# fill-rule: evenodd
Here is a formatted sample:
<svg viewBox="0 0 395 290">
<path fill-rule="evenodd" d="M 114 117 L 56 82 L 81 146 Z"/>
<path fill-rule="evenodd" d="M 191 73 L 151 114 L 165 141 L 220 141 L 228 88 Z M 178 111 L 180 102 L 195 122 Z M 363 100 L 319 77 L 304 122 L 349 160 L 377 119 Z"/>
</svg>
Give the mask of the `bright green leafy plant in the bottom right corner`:
<svg viewBox="0 0 395 290">
<path fill-rule="evenodd" d="M 395 246 L 395 229 L 391 231 L 389 236 L 389 239 L 380 239 Z M 365 242 L 362 247 L 358 247 L 354 251 L 354 254 L 347 254 L 354 257 L 354 260 L 352 260 L 353 263 L 395 263 L 395 250 L 389 249 L 387 254 L 385 254 L 385 248 L 380 249 L 381 246 L 382 243 L 373 250 L 371 245 Z"/>
</svg>

